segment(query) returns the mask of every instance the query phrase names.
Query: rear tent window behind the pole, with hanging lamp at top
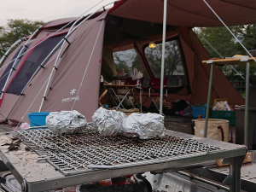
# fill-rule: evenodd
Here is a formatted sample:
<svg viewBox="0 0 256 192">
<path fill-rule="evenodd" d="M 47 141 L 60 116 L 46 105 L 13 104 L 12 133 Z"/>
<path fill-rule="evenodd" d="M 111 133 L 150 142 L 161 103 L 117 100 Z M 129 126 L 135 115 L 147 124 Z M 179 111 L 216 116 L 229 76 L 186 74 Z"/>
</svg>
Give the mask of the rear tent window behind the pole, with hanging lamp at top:
<svg viewBox="0 0 256 192">
<path fill-rule="evenodd" d="M 160 78 L 162 44 L 156 44 L 155 48 L 146 47 L 145 56 L 154 76 Z M 186 84 L 183 60 L 177 40 L 166 42 L 165 76 L 169 76 L 168 86 L 181 86 Z"/>
</svg>

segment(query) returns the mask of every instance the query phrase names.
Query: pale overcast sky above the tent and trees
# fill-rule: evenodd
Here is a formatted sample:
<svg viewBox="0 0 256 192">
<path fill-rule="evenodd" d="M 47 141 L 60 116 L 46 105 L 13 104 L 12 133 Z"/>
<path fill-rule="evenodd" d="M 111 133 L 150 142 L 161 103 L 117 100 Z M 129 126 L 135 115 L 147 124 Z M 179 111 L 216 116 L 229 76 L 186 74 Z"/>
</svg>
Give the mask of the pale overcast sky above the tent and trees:
<svg viewBox="0 0 256 192">
<path fill-rule="evenodd" d="M 96 3 L 96 11 L 114 0 L 0 0 L 0 26 L 8 19 L 57 20 L 66 17 L 78 17 Z M 112 7 L 111 5 L 110 7 Z"/>
</svg>

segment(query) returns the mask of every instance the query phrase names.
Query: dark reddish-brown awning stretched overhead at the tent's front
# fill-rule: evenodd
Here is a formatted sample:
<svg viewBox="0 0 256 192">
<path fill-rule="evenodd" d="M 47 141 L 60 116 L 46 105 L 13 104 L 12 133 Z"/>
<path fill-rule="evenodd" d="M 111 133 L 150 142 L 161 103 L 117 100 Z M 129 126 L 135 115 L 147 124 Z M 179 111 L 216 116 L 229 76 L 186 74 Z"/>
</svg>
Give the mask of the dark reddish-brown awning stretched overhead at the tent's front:
<svg viewBox="0 0 256 192">
<path fill-rule="evenodd" d="M 163 0 L 121 0 L 109 14 L 119 17 L 163 22 Z M 228 26 L 256 23 L 254 0 L 207 0 Z M 203 0 L 172 0 L 167 2 L 166 25 L 169 26 L 223 26 Z"/>
</svg>

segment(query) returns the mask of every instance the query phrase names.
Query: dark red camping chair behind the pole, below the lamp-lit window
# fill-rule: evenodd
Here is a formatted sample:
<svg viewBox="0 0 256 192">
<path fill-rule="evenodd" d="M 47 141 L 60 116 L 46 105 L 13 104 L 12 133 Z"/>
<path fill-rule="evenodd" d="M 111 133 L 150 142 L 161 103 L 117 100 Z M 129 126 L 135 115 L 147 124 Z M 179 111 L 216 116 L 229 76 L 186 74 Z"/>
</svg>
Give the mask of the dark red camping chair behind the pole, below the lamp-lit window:
<svg viewBox="0 0 256 192">
<path fill-rule="evenodd" d="M 166 76 L 164 79 L 164 91 L 166 93 L 164 93 L 163 95 L 163 99 L 166 99 L 167 95 L 168 95 L 168 91 L 166 89 L 167 84 L 168 84 L 168 79 L 169 77 Z M 157 108 L 158 111 L 160 111 L 160 109 L 158 108 L 157 104 L 154 102 L 153 97 L 159 97 L 160 96 L 160 79 L 159 78 L 151 78 L 149 83 L 148 83 L 148 87 L 143 87 L 142 88 L 143 91 L 147 90 L 148 92 L 143 92 L 142 96 L 147 96 L 147 98 L 144 100 L 143 105 L 145 104 L 145 102 L 147 102 L 148 98 L 151 99 L 151 101 L 154 103 L 154 106 Z M 152 92 L 152 90 L 154 90 L 154 92 Z M 135 94 L 138 96 L 138 94 Z"/>
</svg>

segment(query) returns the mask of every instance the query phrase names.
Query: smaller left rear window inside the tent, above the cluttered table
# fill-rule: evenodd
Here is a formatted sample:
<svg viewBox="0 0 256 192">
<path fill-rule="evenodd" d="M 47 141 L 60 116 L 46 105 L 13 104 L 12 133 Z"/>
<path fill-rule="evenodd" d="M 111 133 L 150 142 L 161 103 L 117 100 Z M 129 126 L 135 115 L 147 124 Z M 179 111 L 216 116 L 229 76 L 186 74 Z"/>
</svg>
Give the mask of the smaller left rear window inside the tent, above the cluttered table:
<svg viewBox="0 0 256 192">
<path fill-rule="evenodd" d="M 137 68 L 137 71 L 143 73 L 143 86 L 148 86 L 148 73 L 146 73 L 145 67 L 143 66 L 140 57 L 137 55 L 135 49 L 127 49 L 113 53 L 114 66 L 117 73 L 120 70 L 125 71 L 125 75 L 129 75 L 129 70 Z"/>
</svg>

